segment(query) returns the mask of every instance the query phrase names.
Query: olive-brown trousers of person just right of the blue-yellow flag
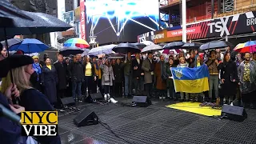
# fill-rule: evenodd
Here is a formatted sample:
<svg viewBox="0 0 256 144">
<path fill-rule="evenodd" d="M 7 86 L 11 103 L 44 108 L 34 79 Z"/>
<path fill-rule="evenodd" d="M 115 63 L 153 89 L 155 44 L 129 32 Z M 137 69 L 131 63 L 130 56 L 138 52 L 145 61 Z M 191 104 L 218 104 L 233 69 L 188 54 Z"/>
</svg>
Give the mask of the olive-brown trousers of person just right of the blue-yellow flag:
<svg viewBox="0 0 256 144">
<path fill-rule="evenodd" d="M 215 98 L 218 97 L 218 74 L 210 75 L 209 78 L 209 98 L 213 98 L 213 90 Z"/>
</svg>

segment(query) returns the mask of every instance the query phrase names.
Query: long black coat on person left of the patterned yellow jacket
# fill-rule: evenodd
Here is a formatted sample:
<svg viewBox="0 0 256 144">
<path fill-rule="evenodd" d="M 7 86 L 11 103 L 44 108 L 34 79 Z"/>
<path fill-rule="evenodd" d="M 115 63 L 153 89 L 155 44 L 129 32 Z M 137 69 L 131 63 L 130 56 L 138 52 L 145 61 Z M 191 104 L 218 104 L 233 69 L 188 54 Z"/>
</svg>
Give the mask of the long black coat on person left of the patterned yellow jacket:
<svg viewBox="0 0 256 144">
<path fill-rule="evenodd" d="M 220 94 L 222 96 L 236 94 L 238 85 L 238 68 L 236 63 L 230 60 L 229 62 L 222 62 L 218 67 L 221 70 L 221 79 L 225 79 Z M 231 82 L 233 79 L 236 82 Z"/>
</svg>

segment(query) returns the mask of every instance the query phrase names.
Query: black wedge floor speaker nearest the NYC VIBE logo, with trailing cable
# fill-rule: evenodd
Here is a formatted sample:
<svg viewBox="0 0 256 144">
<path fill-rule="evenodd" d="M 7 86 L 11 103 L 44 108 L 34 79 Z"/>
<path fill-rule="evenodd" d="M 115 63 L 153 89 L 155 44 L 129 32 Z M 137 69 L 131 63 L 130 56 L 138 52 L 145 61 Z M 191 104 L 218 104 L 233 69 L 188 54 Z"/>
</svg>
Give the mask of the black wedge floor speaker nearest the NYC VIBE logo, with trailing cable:
<svg viewBox="0 0 256 144">
<path fill-rule="evenodd" d="M 97 125 L 98 116 L 94 113 L 94 111 L 86 108 L 85 110 L 82 110 L 82 112 L 74 118 L 74 124 L 78 127 Z"/>
</svg>

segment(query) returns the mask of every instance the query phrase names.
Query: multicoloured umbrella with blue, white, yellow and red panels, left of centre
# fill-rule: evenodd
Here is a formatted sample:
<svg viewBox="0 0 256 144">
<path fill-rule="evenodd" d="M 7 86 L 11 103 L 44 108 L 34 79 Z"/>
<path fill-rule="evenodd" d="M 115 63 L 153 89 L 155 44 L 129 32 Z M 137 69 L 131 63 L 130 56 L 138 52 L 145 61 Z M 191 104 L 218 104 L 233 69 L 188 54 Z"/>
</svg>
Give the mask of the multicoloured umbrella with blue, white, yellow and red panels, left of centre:
<svg viewBox="0 0 256 144">
<path fill-rule="evenodd" d="M 86 42 L 82 38 L 70 38 L 66 42 L 64 42 L 63 46 L 79 47 L 79 48 L 88 48 L 88 47 L 90 47 L 88 42 Z"/>
</svg>

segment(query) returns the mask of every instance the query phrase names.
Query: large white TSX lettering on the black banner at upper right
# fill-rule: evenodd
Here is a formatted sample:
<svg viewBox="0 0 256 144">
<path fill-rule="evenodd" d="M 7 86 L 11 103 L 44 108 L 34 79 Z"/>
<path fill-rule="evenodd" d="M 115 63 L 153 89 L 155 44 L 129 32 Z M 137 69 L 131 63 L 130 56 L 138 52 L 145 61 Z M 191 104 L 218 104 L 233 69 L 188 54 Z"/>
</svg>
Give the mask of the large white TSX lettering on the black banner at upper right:
<svg viewBox="0 0 256 144">
<path fill-rule="evenodd" d="M 219 18 L 220 22 L 210 22 L 207 24 L 207 26 L 210 26 L 210 34 L 212 34 L 214 31 L 216 33 L 221 33 L 220 36 L 222 37 L 224 34 L 230 35 L 229 30 L 227 29 L 227 22 L 229 22 L 228 18 Z"/>
</svg>

